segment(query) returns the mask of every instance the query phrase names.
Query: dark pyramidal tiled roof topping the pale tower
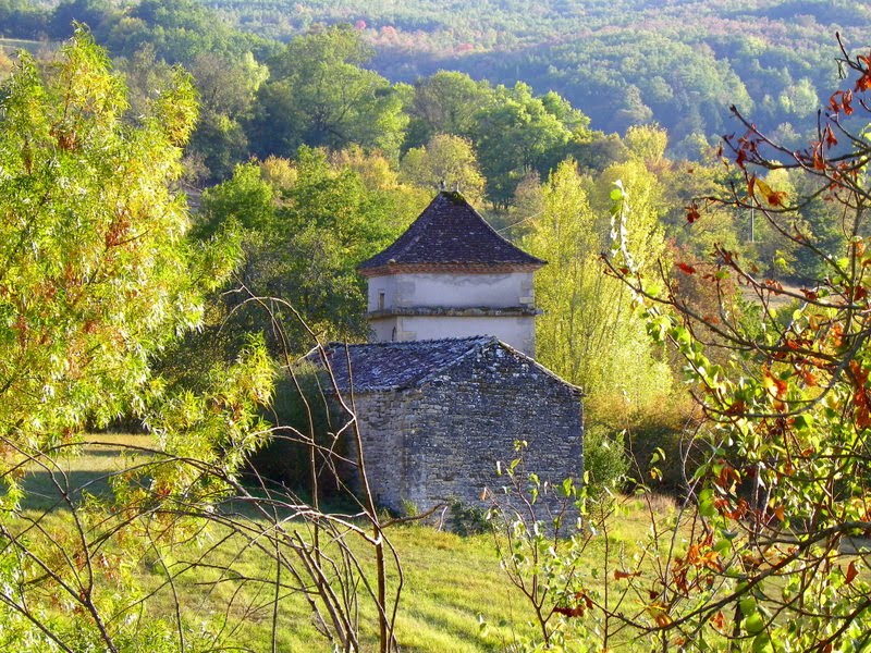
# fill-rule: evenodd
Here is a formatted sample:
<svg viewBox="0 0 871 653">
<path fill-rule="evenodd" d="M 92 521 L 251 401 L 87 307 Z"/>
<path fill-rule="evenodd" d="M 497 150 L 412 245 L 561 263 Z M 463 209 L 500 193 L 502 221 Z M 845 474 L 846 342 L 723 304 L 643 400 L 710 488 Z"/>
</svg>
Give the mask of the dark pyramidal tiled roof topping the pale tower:
<svg viewBox="0 0 871 653">
<path fill-rule="evenodd" d="M 387 266 L 520 266 L 544 261 L 500 236 L 465 198 L 442 190 L 390 247 L 358 266 L 371 274 Z"/>
</svg>

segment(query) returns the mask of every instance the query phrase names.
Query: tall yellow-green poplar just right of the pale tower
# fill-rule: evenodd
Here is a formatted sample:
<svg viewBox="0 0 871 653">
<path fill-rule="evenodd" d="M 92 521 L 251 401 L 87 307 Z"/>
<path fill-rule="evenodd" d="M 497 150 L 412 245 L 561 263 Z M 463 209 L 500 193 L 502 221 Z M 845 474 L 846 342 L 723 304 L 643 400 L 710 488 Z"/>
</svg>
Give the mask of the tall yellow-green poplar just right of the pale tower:
<svg viewBox="0 0 871 653">
<path fill-rule="evenodd" d="M 663 250 L 657 213 L 646 205 L 653 200 L 642 199 L 651 182 L 637 171 L 629 183 L 638 190 L 639 213 L 628 231 L 648 267 Z M 584 384 L 592 422 L 625 428 L 667 395 L 671 373 L 648 343 L 630 293 L 604 274 L 608 213 L 593 208 L 589 186 L 573 160 L 561 163 L 523 241 L 548 261 L 536 274 L 536 303 L 544 312 L 538 318 L 537 353 L 556 373 Z"/>
</svg>

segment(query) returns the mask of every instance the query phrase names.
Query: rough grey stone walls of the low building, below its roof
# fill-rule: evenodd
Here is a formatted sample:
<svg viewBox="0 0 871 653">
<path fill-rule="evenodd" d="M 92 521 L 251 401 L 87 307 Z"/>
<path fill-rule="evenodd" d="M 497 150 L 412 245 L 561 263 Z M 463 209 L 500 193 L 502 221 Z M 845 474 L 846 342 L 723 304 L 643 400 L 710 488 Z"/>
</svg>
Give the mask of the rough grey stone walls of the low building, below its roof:
<svg viewBox="0 0 871 653">
<path fill-rule="evenodd" d="M 580 399 L 529 359 L 494 345 L 420 387 L 356 396 L 369 483 L 382 505 L 425 510 L 458 498 L 480 503 L 505 482 L 496 460 L 528 442 L 527 471 L 543 480 L 582 476 Z"/>
</svg>

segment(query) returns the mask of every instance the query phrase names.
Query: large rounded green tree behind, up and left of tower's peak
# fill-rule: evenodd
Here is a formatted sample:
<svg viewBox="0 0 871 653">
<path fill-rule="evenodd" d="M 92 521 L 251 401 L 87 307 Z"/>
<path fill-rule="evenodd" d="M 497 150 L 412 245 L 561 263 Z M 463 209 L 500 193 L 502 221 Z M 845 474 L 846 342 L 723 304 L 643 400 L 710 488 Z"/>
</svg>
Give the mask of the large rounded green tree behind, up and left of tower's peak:
<svg viewBox="0 0 871 653">
<path fill-rule="evenodd" d="M 249 137 L 258 153 L 293 156 L 302 145 L 351 144 L 395 157 L 408 118 L 390 83 L 360 67 L 369 50 L 348 26 L 293 39 L 270 62 Z"/>
</svg>

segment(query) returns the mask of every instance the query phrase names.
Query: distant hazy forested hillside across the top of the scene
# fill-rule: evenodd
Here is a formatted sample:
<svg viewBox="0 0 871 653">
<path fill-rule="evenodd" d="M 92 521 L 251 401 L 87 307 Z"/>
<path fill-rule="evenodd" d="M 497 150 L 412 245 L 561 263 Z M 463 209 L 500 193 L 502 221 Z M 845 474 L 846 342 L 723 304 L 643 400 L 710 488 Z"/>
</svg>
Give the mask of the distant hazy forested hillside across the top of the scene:
<svg viewBox="0 0 871 653">
<path fill-rule="evenodd" d="M 438 70 L 555 90 L 605 132 L 659 122 L 673 149 L 732 130 L 731 103 L 798 140 L 838 72 L 835 34 L 864 46 L 871 9 L 843 0 L 204 0 L 240 28 L 287 39 L 354 24 L 372 67 L 413 83 Z"/>
</svg>

